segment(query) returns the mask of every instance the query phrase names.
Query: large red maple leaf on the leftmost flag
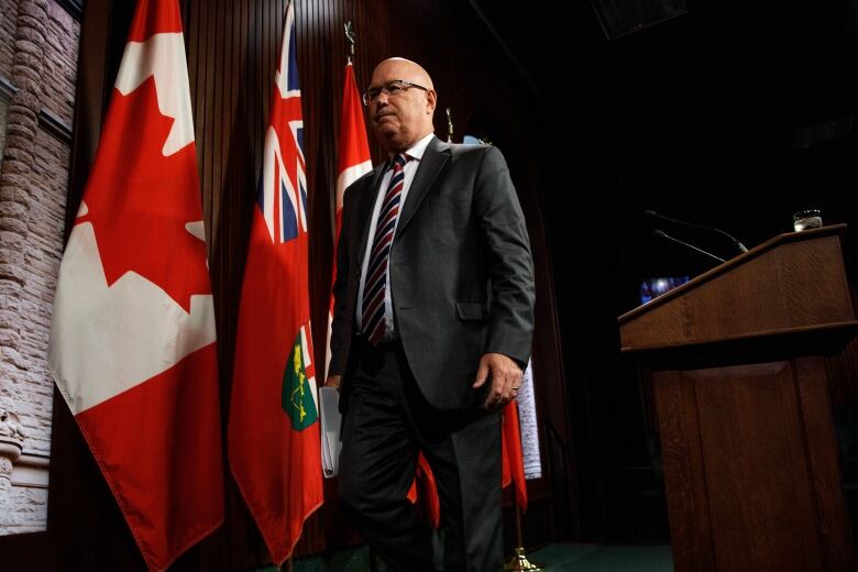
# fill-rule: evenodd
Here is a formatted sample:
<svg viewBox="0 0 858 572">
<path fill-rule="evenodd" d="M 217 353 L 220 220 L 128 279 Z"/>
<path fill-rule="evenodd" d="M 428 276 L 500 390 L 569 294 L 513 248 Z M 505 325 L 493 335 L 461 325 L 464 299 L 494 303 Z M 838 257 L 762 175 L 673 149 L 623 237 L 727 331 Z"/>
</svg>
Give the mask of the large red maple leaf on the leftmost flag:
<svg viewBox="0 0 858 572">
<path fill-rule="evenodd" d="M 154 78 L 128 96 L 113 89 L 76 224 L 92 223 L 108 286 L 135 272 L 189 312 L 190 296 L 211 283 L 206 244 L 186 229 L 202 219 L 196 146 L 162 153 L 173 122 L 158 111 Z"/>
</svg>

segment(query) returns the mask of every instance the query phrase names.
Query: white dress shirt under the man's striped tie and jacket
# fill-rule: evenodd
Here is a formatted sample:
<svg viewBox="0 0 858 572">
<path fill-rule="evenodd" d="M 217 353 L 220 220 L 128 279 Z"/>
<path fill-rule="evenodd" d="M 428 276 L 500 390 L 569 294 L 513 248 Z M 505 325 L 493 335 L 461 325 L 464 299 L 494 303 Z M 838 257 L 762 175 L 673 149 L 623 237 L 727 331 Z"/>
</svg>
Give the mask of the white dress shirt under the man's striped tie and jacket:
<svg viewBox="0 0 858 572">
<path fill-rule="evenodd" d="M 405 152 L 406 155 L 411 157 L 408 163 L 405 164 L 405 167 L 403 168 L 405 180 L 403 182 L 403 190 L 402 195 L 399 197 L 399 212 L 396 215 L 396 223 L 394 227 L 394 239 L 396 239 L 396 228 L 399 226 L 399 217 L 403 213 L 403 209 L 405 208 L 405 200 L 408 198 L 408 190 L 411 188 L 411 182 L 414 180 L 414 176 L 417 173 L 417 167 L 420 166 L 420 160 L 422 160 L 424 152 L 426 151 L 426 146 L 429 144 L 429 142 L 435 136 L 435 133 L 429 133 L 424 139 L 418 141 L 411 148 L 407 150 Z M 382 183 L 378 185 L 378 189 L 376 190 L 376 197 L 375 197 L 375 208 L 373 208 L 372 213 L 372 221 L 370 222 L 370 235 L 366 240 L 366 252 L 363 254 L 363 266 L 361 267 L 361 285 L 358 289 L 358 309 L 356 309 L 356 320 L 358 320 L 358 331 L 363 331 L 363 287 L 364 283 L 366 282 L 366 266 L 370 265 L 370 252 L 373 250 L 373 239 L 375 238 L 375 227 L 378 224 L 378 213 L 382 211 L 382 204 L 384 202 L 384 195 L 387 193 L 387 186 L 391 184 L 391 178 L 393 177 L 393 168 L 388 168 L 387 172 L 385 172 L 384 176 L 382 177 Z M 393 249 L 393 242 L 391 243 L 391 249 Z M 386 284 L 384 287 L 384 320 L 386 322 L 386 330 L 384 333 L 384 337 L 382 338 L 384 341 L 395 340 L 396 339 L 396 331 L 394 329 L 394 319 L 393 319 L 393 304 L 391 301 L 391 256 L 387 255 L 387 268 L 386 268 Z"/>
</svg>

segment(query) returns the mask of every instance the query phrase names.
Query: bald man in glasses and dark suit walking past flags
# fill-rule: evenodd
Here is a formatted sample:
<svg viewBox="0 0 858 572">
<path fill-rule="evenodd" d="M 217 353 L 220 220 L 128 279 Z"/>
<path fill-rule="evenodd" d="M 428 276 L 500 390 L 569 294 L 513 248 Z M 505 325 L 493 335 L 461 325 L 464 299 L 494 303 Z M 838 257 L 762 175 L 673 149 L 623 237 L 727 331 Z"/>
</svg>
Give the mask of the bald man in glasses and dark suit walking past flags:
<svg viewBox="0 0 858 572">
<path fill-rule="evenodd" d="M 406 494 L 418 451 L 441 502 L 444 568 L 502 568 L 499 409 L 530 354 L 534 273 L 503 155 L 432 134 L 426 70 L 391 58 L 364 94 L 389 161 L 350 186 L 330 377 L 344 414 L 340 493 L 387 564 L 432 570 Z"/>
</svg>

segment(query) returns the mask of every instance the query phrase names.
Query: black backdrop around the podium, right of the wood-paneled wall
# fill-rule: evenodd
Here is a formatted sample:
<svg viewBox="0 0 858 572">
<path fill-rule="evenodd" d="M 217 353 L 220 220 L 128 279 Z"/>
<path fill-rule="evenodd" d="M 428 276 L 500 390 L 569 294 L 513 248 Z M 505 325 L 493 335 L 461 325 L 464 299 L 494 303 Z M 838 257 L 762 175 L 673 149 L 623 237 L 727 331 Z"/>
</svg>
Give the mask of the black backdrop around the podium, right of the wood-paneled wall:
<svg viewBox="0 0 858 572">
<path fill-rule="evenodd" d="M 581 539 L 667 542 L 647 388 L 618 355 L 614 318 L 639 304 L 642 279 L 693 277 L 713 263 L 653 237 L 642 211 L 752 248 L 790 231 L 793 212 L 818 208 L 825 223 L 851 226 L 855 276 L 858 3 L 689 0 L 688 13 L 613 41 L 587 2 L 564 13 L 479 4 L 520 63 L 516 103 L 536 118 L 509 136 L 529 139 L 539 157 Z M 659 227 L 737 253 L 714 234 Z M 854 415 L 853 397 L 836 404 L 838 419 Z M 854 439 L 850 419 L 838 435 Z"/>
</svg>

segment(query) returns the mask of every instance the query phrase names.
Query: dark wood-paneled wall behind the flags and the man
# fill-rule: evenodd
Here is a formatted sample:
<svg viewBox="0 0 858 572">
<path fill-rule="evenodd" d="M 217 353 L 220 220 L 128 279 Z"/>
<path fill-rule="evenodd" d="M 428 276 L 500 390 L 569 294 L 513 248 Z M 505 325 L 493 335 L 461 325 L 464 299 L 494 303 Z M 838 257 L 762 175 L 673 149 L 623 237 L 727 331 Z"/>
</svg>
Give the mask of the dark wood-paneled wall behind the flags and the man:
<svg viewBox="0 0 858 572">
<path fill-rule="evenodd" d="M 226 430 L 241 280 L 286 1 L 182 0 L 180 6 L 218 319 Z M 571 436 L 540 211 L 542 165 L 529 135 L 536 133 L 531 124 L 538 118 L 528 105 L 529 92 L 520 87 L 524 81 L 464 1 L 298 0 L 296 10 L 317 363 L 323 363 L 331 279 L 331 197 L 346 56 L 343 23 L 351 20 L 358 38 L 359 89 L 385 57 L 420 62 L 439 94 L 436 133 L 447 136 L 444 108 L 451 107 L 457 140 L 468 125 L 477 127 L 507 157 L 531 234 L 538 282 L 534 367 L 546 476 L 530 482 L 526 543 L 571 539 L 576 530 Z M 87 0 L 85 4 L 68 222 L 79 205 L 132 15 L 133 2 Z M 382 148 L 372 141 L 371 148 L 374 161 L 381 160 Z M 0 546 L 11 550 L 42 547 L 37 558 L 33 552 L 23 556 L 21 562 L 31 566 L 38 562 L 42 568 L 73 563 L 81 569 L 143 570 L 128 528 L 62 399 L 55 402 L 53 448 L 48 532 Z M 184 556 L 176 568 L 226 570 L 265 562 L 258 532 L 231 479 L 227 481 L 227 524 Z M 305 526 L 298 556 L 361 541 L 337 507 L 333 481 L 326 483 L 326 494 L 329 501 Z M 508 547 L 514 530 L 510 516 L 508 510 Z"/>
</svg>

